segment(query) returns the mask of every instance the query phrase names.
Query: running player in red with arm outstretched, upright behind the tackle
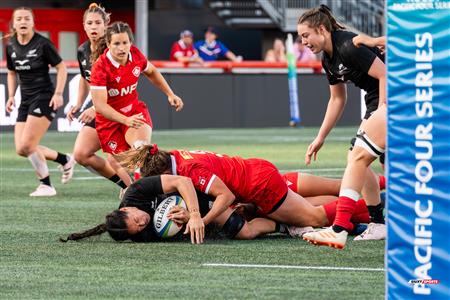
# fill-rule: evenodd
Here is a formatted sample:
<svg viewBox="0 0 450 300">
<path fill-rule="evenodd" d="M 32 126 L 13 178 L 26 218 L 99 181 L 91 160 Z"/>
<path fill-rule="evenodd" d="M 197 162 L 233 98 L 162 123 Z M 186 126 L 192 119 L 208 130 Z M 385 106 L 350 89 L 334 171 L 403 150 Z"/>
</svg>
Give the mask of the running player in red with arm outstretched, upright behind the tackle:
<svg viewBox="0 0 450 300">
<path fill-rule="evenodd" d="M 132 45 L 133 35 L 128 24 L 115 22 L 106 29 L 107 49 L 97 47 L 92 67 L 91 95 L 97 111 L 96 130 L 104 152 L 117 154 L 130 147 L 149 144 L 152 120 L 144 102 L 136 92 L 139 76 L 143 73 L 167 95 L 176 111 L 183 101 L 174 94 L 164 77 Z"/>
</svg>

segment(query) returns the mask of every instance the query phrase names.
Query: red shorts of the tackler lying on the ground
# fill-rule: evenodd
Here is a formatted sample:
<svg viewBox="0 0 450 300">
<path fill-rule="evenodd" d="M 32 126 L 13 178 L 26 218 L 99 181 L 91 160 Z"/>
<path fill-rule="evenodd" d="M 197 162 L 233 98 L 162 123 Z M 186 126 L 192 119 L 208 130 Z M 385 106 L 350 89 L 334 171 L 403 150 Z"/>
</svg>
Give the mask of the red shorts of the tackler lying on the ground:
<svg viewBox="0 0 450 300">
<path fill-rule="evenodd" d="M 251 182 L 244 202 L 254 203 L 260 213 L 273 213 L 286 199 L 288 187 L 278 169 L 263 159 L 246 159 L 246 182 Z"/>
</svg>

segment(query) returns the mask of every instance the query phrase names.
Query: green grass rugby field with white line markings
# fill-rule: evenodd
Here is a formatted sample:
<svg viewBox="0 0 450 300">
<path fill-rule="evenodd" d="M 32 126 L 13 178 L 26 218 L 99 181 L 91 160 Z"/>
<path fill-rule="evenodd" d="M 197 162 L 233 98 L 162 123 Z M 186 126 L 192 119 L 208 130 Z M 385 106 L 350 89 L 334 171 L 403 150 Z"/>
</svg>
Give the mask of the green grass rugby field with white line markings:
<svg viewBox="0 0 450 300">
<path fill-rule="evenodd" d="M 303 163 L 305 150 L 317 132 L 311 128 L 157 131 L 153 141 L 163 149 L 261 157 L 283 171 L 340 177 L 355 131 L 335 129 L 311 167 Z M 51 132 L 42 144 L 70 152 L 75 136 Z M 343 251 L 280 235 L 253 241 L 208 240 L 200 246 L 187 242 L 117 243 L 107 234 L 60 243 L 60 236 L 103 222 L 119 204 L 118 187 L 80 166 L 74 179 L 62 185 L 56 164 L 50 162 L 58 195 L 32 199 L 28 194 L 38 182 L 30 163 L 15 154 L 12 134 L 3 133 L 0 139 L 2 299 L 384 297 L 384 272 L 380 271 L 384 268 L 384 241 L 349 241 Z"/>
</svg>

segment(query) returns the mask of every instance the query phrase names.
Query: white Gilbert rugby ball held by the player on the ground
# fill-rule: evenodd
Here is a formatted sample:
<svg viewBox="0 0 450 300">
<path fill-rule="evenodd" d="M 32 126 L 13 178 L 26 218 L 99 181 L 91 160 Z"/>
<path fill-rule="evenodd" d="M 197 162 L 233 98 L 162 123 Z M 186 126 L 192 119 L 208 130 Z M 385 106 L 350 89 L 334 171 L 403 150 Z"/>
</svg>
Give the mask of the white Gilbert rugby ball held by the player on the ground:
<svg viewBox="0 0 450 300">
<path fill-rule="evenodd" d="M 186 203 L 180 196 L 167 197 L 156 208 L 155 214 L 153 215 L 153 226 L 159 237 L 172 237 L 183 227 L 182 224 L 175 223 L 167 218 L 170 209 L 176 205 L 186 208 Z"/>
</svg>

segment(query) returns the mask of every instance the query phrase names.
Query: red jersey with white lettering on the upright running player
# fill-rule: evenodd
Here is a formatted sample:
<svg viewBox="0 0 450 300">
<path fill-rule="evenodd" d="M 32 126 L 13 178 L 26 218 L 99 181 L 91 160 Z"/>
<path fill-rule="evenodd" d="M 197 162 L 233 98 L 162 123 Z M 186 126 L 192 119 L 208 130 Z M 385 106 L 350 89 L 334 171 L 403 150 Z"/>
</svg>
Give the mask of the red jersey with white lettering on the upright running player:
<svg viewBox="0 0 450 300">
<path fill-rule="evenodd" d="M 147 58 L 133 45 L 125 66 L 115 61 L 106 49 L 92 66 L 91 89 L 106 89 L 107 103 L 115 110 L 127 113 L 138 101 L 136 87 L 140 74 L 147 68 Z"/>
</svg>

